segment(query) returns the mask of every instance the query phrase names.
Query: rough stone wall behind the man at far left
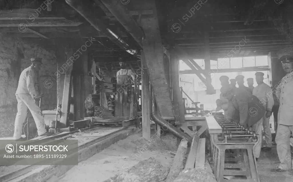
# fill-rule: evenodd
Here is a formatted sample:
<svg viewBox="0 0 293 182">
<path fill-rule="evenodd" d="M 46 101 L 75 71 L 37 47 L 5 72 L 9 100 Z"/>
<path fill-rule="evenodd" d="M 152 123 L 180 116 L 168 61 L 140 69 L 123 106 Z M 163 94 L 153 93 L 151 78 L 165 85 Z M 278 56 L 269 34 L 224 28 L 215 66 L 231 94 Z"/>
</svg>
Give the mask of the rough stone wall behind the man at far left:
<svg viewBox="0 0 293 182">
<path fill-rule="evenodd" d="M 18 59 L 18 52 L 24 58 Z M 41 101 L 42 110 L 54 109 L 57 105 L 57 84 L 54 77 L 57 70 L 57 61 L 53 51 L 44 50 L 18 38 L 0 36 L 0 137 L 13 135 L 14 120 L 17 113 L 15 92 L 20 73 L 30 66 L 31 57 L 43 58 L 39 72 L 41 92 L 44 97 Z"/>
</svg>

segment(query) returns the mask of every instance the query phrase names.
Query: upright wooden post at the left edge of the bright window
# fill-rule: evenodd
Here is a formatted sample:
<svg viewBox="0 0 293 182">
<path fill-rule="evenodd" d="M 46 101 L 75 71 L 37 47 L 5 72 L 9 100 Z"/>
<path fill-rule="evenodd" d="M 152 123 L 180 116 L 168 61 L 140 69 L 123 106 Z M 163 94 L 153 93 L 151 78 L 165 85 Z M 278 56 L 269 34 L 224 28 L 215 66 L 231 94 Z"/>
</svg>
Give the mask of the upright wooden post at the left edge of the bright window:
<svg viewBox="0 0 293 182">
<path fill-rule="evenodd" d="M 182 99 L 182 93 L 179 88 L 179 59 L 171 53 L 171 80 L 172 80 L 172 91 L 173 91 L 173 108 L 176 123 L 184 123 L 184 105 Z"/>
</svg>

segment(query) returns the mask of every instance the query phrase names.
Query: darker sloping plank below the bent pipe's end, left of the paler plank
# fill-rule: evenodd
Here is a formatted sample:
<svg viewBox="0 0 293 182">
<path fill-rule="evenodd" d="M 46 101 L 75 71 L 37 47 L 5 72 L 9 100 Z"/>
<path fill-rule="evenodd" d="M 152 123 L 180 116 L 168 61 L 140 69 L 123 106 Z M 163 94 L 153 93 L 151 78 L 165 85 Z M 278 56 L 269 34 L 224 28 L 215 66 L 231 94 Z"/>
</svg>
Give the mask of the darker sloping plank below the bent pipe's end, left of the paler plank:
<svg viewBox="0 0 293 182">
<path fill-rule="evenodd" d="M 192 143 L 190 146 L 190 151 L 189 151 L 185 168 L 184 168 L 185 170 L 193 169 L 195 166 L 195 159 L 197 155 L 197 147 L 198 147 L 199 140 L 200 138 L 197 135 L 193 136 Z"/>
</svg>

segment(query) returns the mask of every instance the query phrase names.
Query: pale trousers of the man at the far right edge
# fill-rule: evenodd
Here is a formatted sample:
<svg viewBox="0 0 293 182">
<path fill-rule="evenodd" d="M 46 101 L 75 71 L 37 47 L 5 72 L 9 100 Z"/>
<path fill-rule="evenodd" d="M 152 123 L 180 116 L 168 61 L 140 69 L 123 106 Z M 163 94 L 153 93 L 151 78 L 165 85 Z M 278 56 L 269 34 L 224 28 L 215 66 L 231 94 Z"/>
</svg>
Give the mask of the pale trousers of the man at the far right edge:
<svg viewBox="0 0 293 182">
<path fill-rule="evenodd" d="M 280 160 L 280 169 L 291 171 L 292 170 L 292 160 L 291 160 L 291 147 L 290 147 L 290 135 L 293 132 L 293 126 L 280 125 L 278 124 L 276 143 L 277 143 L 277 153 Z"/>
</svg>

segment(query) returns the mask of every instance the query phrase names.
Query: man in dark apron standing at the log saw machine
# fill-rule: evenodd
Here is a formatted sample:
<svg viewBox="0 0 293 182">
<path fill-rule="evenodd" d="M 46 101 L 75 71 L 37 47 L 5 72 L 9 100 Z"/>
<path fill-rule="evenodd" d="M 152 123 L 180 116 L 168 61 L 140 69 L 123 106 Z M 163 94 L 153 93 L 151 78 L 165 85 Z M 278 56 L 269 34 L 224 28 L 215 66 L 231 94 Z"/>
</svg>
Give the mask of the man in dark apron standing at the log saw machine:
<svg viewBox="0 0 293 182">
<path fill-rule="evenodd" d="M 134 83 L 136 74 L 132 69 L 126 67 L 126 63 L 119 58 L 121 69 L 117 72 L 117 86 L 115 99 L 115 116 L 130 116 L 130 91 L 132 83 Z"/>
</svg>

